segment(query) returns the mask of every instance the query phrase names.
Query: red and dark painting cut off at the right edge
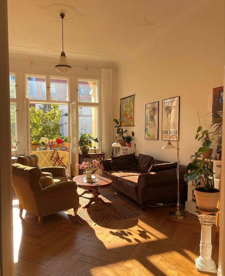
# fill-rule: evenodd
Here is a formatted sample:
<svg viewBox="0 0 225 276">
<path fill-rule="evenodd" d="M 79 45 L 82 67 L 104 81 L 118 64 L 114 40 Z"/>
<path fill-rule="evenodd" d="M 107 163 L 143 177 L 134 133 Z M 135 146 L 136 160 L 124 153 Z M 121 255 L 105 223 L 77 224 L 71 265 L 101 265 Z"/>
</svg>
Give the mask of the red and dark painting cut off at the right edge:
<svg viewBox="0 0 225 276">
<path fill-rule="evenodd" d="M 218 120 L 218 112 L 223 110 L 223 86 L 212 89 L 212 123 Z"/>
</svg>

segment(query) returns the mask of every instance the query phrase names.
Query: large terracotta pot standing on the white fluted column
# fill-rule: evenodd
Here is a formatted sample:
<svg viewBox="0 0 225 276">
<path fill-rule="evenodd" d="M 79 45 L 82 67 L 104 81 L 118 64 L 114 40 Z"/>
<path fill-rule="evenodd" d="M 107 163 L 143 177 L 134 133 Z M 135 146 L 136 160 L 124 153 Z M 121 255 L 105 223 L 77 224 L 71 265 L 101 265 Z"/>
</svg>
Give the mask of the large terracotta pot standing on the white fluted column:
<svg viewBox="0 0 225 276">
<path fill-rule="evenodd" d="M 203 187 L 194 189 L 195 199 L 199 210 L 205 212 L 214 212 L 219 200 L 220 191 L 215 189 L 215 192 L 205 192 Z"/>
</svg>

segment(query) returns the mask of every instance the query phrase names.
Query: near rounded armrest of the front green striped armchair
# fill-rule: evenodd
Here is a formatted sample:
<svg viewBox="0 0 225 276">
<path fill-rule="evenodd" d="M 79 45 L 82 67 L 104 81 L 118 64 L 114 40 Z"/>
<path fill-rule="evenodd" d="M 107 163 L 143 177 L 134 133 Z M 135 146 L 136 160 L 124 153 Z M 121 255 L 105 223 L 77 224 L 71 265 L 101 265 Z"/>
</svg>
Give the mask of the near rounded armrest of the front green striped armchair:
<svg viewBox="0 0 225 276">
<path fill-rule="evenodd" d="M 39 198 L 48 197 L 57 194 L 64 194 L 75 192 L 77 190 L 77 183 L 74 181 L 65 181 L 48 186 L 42 190 Z"/>
</svg>

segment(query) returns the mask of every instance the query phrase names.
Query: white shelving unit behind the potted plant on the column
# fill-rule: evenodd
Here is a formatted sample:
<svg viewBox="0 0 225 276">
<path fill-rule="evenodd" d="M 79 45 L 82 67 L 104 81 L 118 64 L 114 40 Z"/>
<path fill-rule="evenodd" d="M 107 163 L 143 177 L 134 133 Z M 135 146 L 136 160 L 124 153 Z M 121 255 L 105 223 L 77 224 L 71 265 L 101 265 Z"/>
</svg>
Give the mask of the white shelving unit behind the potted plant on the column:
<svg viewBox="0 0 225 276">
<path fill-rule="evenodd" d="M 192 162 L 194 159 L 189 158 L 189 163 Z M 205 158 L 207 159 L 207 158 Z M 202 157 L 199 157 L 198 160 L 202 160 Z M 213 163 L 213 172 L 214 175 L 214 185 L 216 189 L 219 189 L 219 177 L 220 177 L 220 168 L 217 167 L 217 165 L 221 165 L 221 160 L 214 160 L 211 159 L 211 162 Z M 185 210 L 189 213 L 192 213 L 193 215 L 197 216 L 195 213 L 195 206 L 197 205 L 196 201 L 193 200 L 193 190 L 195 188 L 195 185 L 193 184 L 193 181 L 188 183 L 188 196 L 187 201 L 185 202 Z"/>
</svg>

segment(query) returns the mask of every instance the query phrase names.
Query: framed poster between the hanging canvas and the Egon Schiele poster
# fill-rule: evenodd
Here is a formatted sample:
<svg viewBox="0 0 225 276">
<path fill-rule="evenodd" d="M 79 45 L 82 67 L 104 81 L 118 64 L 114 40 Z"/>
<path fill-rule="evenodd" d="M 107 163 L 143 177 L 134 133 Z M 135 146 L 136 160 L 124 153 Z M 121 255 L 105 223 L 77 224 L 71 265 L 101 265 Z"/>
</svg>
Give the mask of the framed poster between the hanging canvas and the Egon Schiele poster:
<svg viewBox="0 0 225 276">
<path fill-rule="evenodd" d="M 145 137 L 146 140 L 159 139 L 159 102 L 145 105 Z"/>
</svg>

